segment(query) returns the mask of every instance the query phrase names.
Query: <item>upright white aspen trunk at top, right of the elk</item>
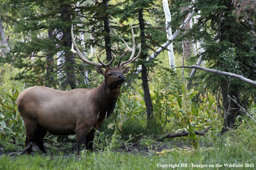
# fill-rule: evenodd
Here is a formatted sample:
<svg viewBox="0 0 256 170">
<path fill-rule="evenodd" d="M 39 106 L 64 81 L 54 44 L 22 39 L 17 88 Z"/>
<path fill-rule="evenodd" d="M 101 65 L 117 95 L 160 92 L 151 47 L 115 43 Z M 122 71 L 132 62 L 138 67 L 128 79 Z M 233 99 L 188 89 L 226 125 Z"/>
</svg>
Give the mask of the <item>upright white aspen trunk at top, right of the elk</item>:
<svg viewBox="0 0 256 170">
<path fill-rule="evenodd" d="M 167 32 L 167 39 L 170 39 L 172 37 L 172 27 L 170 25 L 171 23 L 171 12 L 169 10 L 168 6 L 168 0 L 162 0 L 163 9 L 165 12 L 165 27 Z M 173 54 L 173 46 L 172 43 L 167 47 L 168 49 L 168 56 L 169 56 L 169 64 L 170 68 L 174 68 L 173 70 L 176 70 L 175 66 L 175 59 Z"/>
</svg>

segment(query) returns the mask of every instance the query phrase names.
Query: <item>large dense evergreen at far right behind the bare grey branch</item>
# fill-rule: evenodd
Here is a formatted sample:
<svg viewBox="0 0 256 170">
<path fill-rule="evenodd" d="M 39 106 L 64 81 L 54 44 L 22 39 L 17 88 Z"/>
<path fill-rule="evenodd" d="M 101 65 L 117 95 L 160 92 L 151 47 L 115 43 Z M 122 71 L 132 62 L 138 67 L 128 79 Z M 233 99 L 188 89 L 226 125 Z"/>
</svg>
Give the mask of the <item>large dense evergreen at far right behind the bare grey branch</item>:
<svg viewBox="0 0 256 170">
<path fill-rule="evenodd" d="M 183 3 L 181 6 L 189 4 L 184 1 L 179 1 L 179 3 Z M 207 67 L 255 80 L 256 53 L 254 48 L 256 41 L 251 33 L 251 30 L 255 29 L 255 23 L 249 24 L 241 18 L 237 22 L 232 0 L 197 0 L 191 3 L 189 10 L 193 9 L 195 12 L 200 11 L 195 14 L 200 15 L 200 18 L 184 36 L 193 36 L 197 41 L 203 40 L 202 46 L 205 52 L 201 55 L 203 60 L 208 61 Z M 238 79 L 212 73 L 203 73 L 200 78 L 216 94 L 222 96 L 224 126 L 221 133 L 224 134 L 228 128 L 234 126 L 237 116 L 242 115 L 240 108 L 229 100 L 228 95 L 238 103 L 247 106 L 248 99 L 255 96 L 255 88 Z M 198 82 L 200 81 L 197 80 Z"/>
</svg>

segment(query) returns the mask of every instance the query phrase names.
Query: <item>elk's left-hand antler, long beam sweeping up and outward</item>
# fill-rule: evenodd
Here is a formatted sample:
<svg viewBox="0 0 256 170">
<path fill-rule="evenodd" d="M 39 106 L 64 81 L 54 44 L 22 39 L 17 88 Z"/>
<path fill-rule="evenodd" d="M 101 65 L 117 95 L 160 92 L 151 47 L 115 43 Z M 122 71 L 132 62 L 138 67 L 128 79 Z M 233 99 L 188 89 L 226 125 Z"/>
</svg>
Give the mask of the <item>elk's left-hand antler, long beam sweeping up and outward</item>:
<svg viewBox="0 0 256 170">
<path fill-rule="evenodd" d="M 98 59 L 98 60 L 100 61 L 100 63 L 94 63 L 94 62 L 92 62 L 92 61 L 87 60 L 87 59 L 84 57 L 84 55 L 80 52 L 80 50 L 78 49 L 78 47 L 77 47 L 77 45 L 76 45 L 76 43 L 75 43 L 75 38 L 74 38 L 74 33 L 73 33 L 73 25 L 72 25 L 72 27 L 71 27 L 71 36 L 72 36 L 72 47 L 71 47 L 71 50 L 70 50 L 71 52 L 73 52 L 74 54 L 77 54 L 78 57 L 79 57 L 82 61 L 84 61 L 85 63 L 87 63 L 87 64 L 91 64 L 91 65 L 94 65 L 94 66 L 106 68 L 106 65 L 105 65 L 103 62 L 101 62 L 99 59 Z M 75 47 L 75 49 L 74 49 L 74 47 Z"/>
</svg>

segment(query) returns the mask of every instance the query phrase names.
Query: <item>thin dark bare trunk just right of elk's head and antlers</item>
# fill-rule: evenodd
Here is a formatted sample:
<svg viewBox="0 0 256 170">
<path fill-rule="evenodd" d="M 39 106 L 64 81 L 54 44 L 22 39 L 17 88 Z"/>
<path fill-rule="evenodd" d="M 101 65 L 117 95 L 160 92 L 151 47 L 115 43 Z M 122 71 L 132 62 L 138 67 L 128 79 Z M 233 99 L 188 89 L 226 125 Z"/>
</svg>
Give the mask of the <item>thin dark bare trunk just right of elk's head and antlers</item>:
<svg viewBox="0 0 256 170">
<path fill-rule="evenodd" d="M 139 9 L 138 15 L 139 15 L 138 19 L 140 24 L 141 51 L 142 51 L 140 54 L 140 58 L 146 61 L 147 54 L 145 54 L 144 52 L 147 51 L 147 46 L 145 41 L 146 36 L 144 33 L 145 23 L 143 18 L 143 9 Z M 142 79 L 143 90 L 144 90 L 144 101 L 147 108 L 147 119 L 150 120 L 153 116 L 153 104 L 151 101 L 150 90 L 149 90 L 148 79 L 147 79 L 147 66 L 145 66 L 144 62 L 141 64 L 141 66 L 142 66 L 141 79 Z"/>
</svg>

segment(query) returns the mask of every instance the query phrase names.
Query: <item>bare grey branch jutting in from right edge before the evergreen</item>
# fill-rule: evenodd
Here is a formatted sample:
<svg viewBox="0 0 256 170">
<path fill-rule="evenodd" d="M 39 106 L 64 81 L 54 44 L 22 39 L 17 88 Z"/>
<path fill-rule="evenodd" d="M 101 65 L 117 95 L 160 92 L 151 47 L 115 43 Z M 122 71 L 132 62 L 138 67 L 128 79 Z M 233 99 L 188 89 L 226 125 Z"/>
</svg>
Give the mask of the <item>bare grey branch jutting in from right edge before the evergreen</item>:
<svg viewBox="0 0 256 170">
<path fill-rule="evenodd" d="M 240 75 L 237 75 L 237 74 L 234 74 L 234 73 L 228 73 L 228 72 L 225 72 L 225 71 L 213 70 L 213 69 L 209 69 L 209 68 L 205 68 L 205 67 L 201 67 L 201 66 L 196 66 L 196 65 L 180 66 L 180 67 L 176 67 L 176 68 L 196 68 L 196 69 L 204 70 L 204 71 L 211 72 L 211 73 L 217 73 L 217 74 L 222 74 L 222 75 L 225 75 L 225 76 L 235 77 L 235 78 L 240 79 L 244 82 L 250 83 L 252 85 L 256 85 L 256 82 L 253 81 L 253 80 L 247 79 L 243 76 L 240 76 Z"/>
</svg>

